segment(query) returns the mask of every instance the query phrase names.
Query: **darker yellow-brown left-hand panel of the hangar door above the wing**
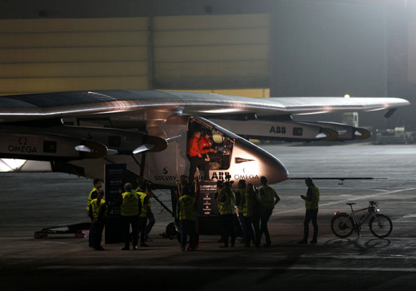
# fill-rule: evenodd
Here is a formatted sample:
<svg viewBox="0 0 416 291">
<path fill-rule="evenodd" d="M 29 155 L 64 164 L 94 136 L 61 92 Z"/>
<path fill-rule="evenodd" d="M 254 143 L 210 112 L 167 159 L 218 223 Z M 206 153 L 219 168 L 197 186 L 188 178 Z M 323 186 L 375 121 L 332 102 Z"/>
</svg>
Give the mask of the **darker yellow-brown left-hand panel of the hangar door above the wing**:
<svg viewBox="0 0 416 291">
<path fill-rule="evenodd" d="M 147 89 L 147 21 L 0 20 L 0 94 Z"/>
</svg>

